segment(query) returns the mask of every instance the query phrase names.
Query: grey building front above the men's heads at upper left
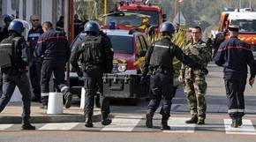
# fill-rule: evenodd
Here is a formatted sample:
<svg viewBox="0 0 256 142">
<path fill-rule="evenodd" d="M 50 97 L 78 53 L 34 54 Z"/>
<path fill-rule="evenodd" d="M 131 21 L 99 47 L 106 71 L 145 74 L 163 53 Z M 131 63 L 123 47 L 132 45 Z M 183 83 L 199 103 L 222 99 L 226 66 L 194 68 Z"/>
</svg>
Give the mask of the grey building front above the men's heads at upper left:
<svg viewBox="0 0 256 142">
<path fill-rule="evenodd" d="M 64 16 L 64 4 L 67 0 L 0 0 L 0 14 L 13 14 L 17 19 L 29 20 L 33 14 L 41 21 L 51 21 L 54 25 L 60 16 Z"/>
</svg>

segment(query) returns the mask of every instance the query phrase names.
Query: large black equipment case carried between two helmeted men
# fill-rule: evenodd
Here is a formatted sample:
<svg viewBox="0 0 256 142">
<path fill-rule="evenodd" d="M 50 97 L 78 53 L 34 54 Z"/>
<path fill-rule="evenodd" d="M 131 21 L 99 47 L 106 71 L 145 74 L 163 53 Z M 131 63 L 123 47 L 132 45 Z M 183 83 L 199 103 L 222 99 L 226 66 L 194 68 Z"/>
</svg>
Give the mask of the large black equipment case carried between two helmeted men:
<svg viewBox="0 0 256 142">
<path fill-rule="evenodd" d="M 104 74 L 103 95 L 111 98 L 146 98 L 148 83 L 140 84 L 141 75 Z"/>
</svg>

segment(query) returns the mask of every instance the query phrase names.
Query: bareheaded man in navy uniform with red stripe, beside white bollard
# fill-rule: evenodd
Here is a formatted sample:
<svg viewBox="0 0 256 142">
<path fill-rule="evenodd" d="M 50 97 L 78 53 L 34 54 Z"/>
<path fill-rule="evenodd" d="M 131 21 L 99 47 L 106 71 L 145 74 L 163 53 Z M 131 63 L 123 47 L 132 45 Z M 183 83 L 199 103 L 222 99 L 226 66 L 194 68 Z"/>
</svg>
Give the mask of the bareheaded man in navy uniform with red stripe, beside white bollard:
<svg viewBox="0 0 256 142">
<path fill-rule="evenodd" d="M 56 79 L 56 86 L 64 94 L 64 107 L 70 108 L 72 93 L 64 81 L 65 64 L 71 53 L 68 41 L 64 32 L 54 30 L 49 21 L 42 24 L 42 30 L 44 33 L 40 35 L 34 52 L 34 56 L 43 59 L 41 65 L 41 108 L 47 108 L 48 105 L 49 80 L 52 73 Z"/>
</svg>

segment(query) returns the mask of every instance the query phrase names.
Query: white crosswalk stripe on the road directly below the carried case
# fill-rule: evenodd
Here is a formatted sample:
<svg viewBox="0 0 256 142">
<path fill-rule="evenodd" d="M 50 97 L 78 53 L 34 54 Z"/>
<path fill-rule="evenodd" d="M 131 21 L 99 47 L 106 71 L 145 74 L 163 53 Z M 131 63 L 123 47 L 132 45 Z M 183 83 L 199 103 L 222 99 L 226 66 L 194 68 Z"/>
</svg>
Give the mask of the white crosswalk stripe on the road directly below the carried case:
<svg viewBox="0 0 256 142">
<path fill-rule="evenodd" d="M 112 119 L 112 123 L 102 128 L 101 131 L 132 131 L 141 118 L 142 116 L 125 116 L 125 118 L 116 116 Z"/>
</svg>

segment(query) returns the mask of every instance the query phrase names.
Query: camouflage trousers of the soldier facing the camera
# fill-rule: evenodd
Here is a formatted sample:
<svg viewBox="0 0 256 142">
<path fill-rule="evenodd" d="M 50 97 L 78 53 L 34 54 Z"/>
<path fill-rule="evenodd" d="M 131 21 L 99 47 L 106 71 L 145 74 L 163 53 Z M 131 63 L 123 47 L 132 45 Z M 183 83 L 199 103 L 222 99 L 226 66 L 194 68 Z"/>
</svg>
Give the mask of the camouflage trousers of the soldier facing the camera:
<svg viewBox="0 0 256 142">
<path fill-rule="evenodd" d="M 207 103 L 205 94 L 207 93 L 207 82 L 205 78 L 185 79 L 184 93 L 190 105 L 191 115 L 197 116 L 201 120 L 206 119 Z"/>
</svg>

